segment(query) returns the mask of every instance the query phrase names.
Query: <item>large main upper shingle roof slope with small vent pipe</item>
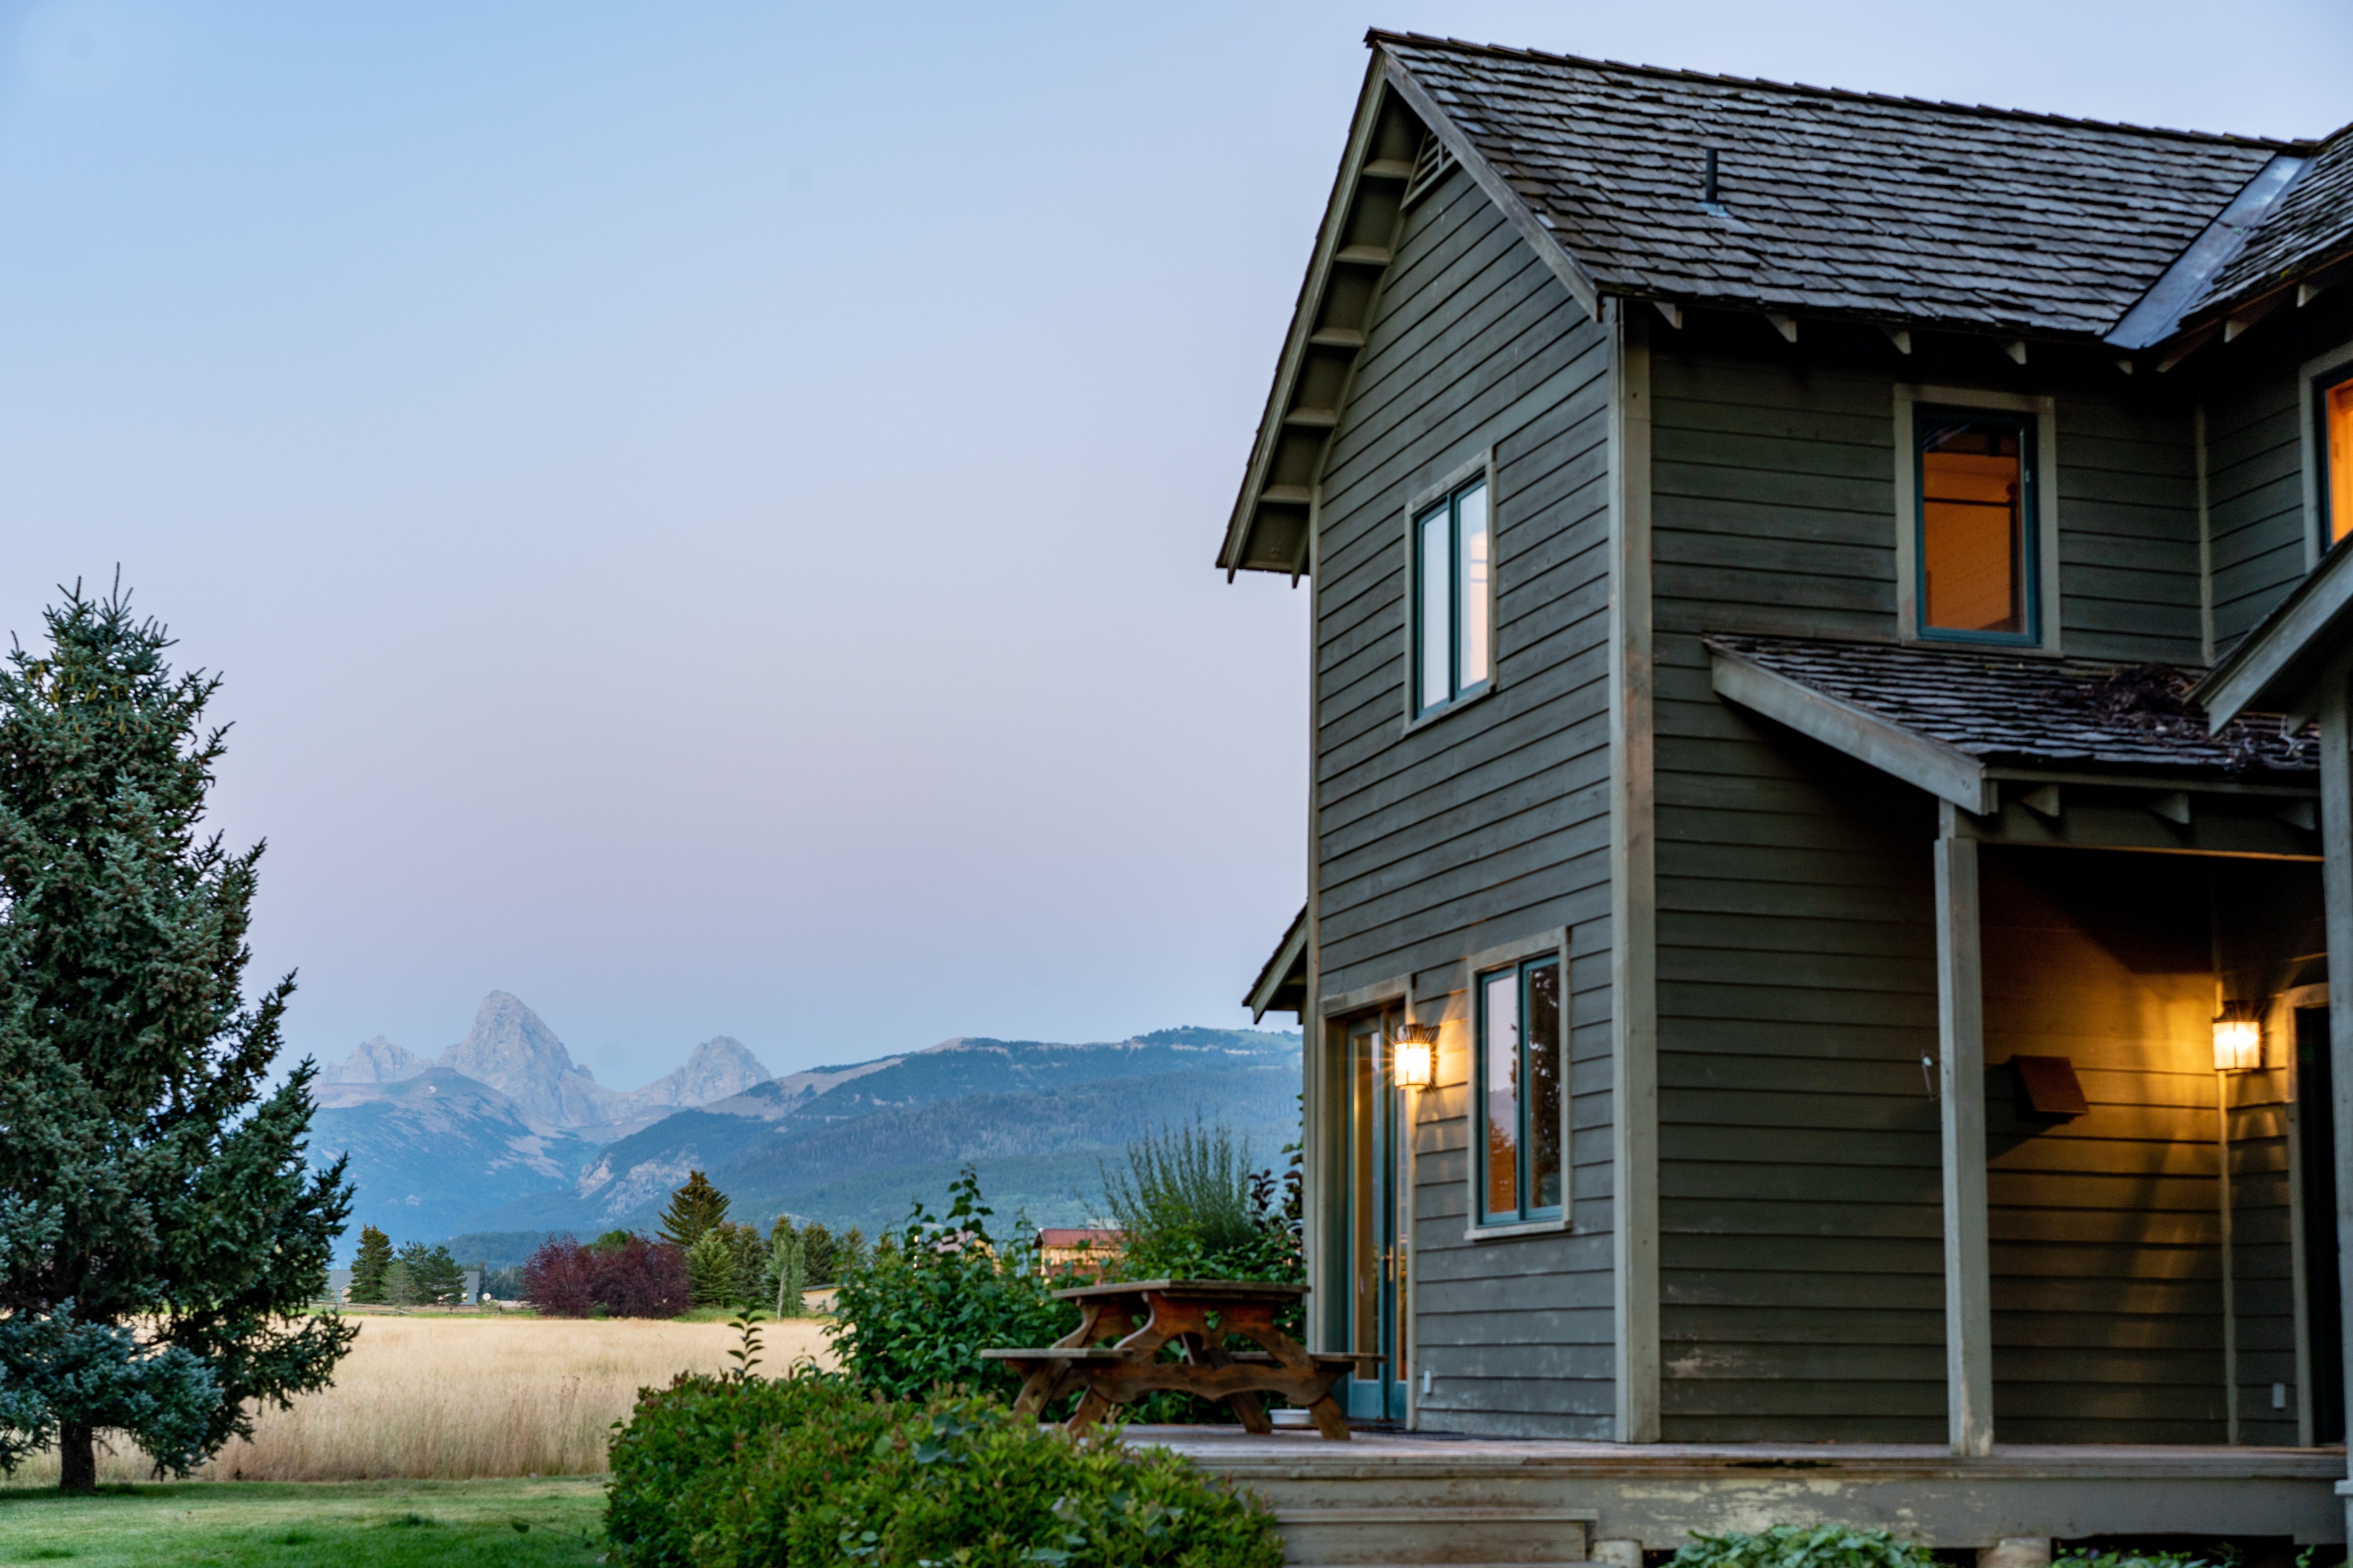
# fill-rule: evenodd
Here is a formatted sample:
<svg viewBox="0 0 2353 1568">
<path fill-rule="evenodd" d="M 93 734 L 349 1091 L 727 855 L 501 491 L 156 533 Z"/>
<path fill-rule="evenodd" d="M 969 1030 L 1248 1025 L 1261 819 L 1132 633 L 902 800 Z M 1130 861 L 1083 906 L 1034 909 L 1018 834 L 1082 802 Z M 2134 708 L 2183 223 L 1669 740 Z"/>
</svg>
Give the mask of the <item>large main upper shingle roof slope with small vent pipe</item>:
<svg viewBox="0 0 2353 1568">
<path fill-rule="evenodd" d="M 2099 336 L 2280 150 L 1372 33 L 1607 294 Z M 1706 150 L 1725 216 L 1701 209 Z"/>
</svg>

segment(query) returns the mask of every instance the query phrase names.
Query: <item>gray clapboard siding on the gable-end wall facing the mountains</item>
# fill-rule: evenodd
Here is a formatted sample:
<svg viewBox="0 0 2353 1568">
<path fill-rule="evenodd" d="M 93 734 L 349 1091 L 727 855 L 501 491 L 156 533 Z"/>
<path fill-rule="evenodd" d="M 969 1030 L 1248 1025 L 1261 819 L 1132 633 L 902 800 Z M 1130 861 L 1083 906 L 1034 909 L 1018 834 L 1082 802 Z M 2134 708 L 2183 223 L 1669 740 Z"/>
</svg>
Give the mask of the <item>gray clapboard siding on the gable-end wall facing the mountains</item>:
<svg viewBox="0 0 2353 1568">
<path fill-rule="evenodd" d="M 1407 214 L 1322 473 L 1318 938 L 1322 992 L 1417 976 L 1445 1006 L 1417 1095 L 1426 1427 L 1607 1436 L 1609 889 L 1607 343 L 1459 172 Z M 1494 454 L 1497 691 L 1405 726 L 1405 505 Z M 1466 1244 L 1461 959 L 1572 931 L 1574 1225 Z"/>
</svg>

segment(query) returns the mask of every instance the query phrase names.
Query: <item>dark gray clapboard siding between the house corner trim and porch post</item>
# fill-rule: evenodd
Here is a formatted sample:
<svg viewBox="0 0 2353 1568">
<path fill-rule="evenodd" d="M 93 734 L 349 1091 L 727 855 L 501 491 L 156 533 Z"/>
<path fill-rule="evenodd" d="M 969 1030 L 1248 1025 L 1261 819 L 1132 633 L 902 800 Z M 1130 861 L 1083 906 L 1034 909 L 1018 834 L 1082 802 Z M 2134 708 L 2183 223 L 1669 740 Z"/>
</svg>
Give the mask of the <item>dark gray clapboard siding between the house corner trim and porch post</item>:
<svg viewBox="0 0 2353 1568">
<path fill-rule="evenodd" d="M 1932 820 L 1697 644 L 1894 635 L 1892 378 L 1694 343 L 1652 353 L 1664 1434 L 1937 1441 Z"/>
</svg>

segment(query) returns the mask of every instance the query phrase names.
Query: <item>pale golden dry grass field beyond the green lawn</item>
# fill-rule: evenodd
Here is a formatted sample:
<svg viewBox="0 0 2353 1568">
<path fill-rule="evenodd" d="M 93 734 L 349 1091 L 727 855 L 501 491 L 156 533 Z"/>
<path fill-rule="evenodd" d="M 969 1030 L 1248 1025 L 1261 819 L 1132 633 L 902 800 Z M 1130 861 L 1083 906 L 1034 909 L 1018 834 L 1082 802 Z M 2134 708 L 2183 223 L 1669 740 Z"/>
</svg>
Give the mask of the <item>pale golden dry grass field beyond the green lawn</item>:
<svg viewBox="0 0 2353 1568">
<path fill-rule="evenodd" d="M 760 1371 L 831 1366 L 814 1319 L 762 1324 Z M 212 1481 L 461 1481 L 605 1469 L 612 1422 L 638 1389 L 734 1366 L 725 1324 L 645 1319 L 367 1316 L 334 1387 L 264 1410 L 254 1441 L 195 1472 Z M 146 1481 L 136 1450 L 99 1455 L 99 1481 Z M 16 1472 L 56 1486 L 56 1458 Z"/>
</svg>

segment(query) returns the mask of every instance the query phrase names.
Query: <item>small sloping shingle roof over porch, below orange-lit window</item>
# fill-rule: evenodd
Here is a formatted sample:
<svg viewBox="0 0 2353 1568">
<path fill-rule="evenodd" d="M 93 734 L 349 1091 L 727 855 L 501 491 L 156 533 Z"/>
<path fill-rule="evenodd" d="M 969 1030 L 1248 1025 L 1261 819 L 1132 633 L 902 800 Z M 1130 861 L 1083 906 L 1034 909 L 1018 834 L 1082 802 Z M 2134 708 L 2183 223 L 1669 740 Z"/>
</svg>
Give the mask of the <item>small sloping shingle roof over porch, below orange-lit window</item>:
<svg viewBox="0 0 2353 1568">
<path fill-rule="evenodd" d="M 2207 733 L 2184 703 L 2195 672 L 2099 658 L 2017 658 L 1824 637 L 1708 637 L 1835 703 L 1941 741 L 1981 762 L 2118 773 L 2306 783 L 2315 733 L 2280 733 L 2268 715 Z"/>
</svg>

